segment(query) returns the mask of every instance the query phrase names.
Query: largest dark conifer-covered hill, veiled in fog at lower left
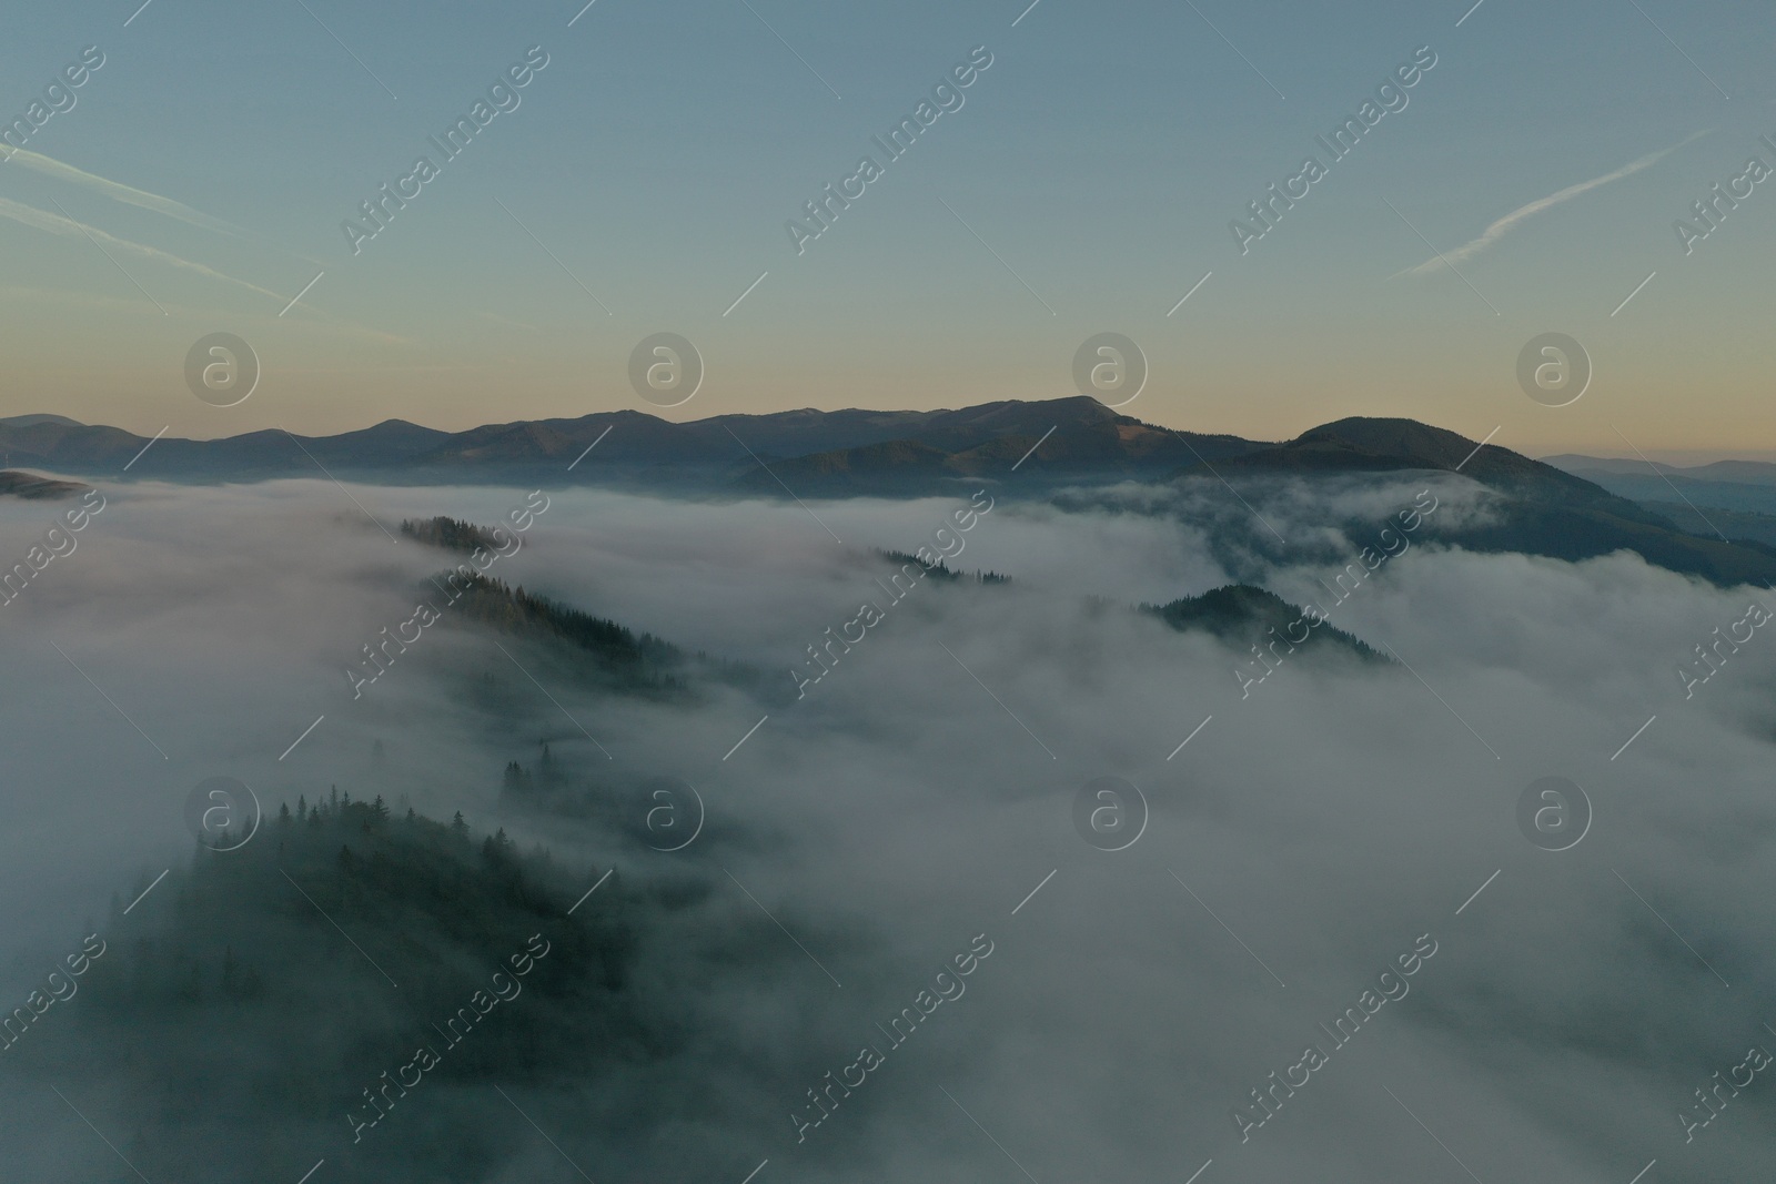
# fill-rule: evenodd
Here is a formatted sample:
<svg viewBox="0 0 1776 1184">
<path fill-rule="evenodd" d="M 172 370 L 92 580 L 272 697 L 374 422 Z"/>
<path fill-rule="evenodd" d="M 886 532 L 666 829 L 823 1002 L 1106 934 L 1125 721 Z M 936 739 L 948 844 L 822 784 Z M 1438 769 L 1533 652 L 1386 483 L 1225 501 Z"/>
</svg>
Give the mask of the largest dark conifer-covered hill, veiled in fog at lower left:
<svg viewBox="0 0 1776 1184">
<path fill-rule="evenodd" d="M 490 1086 L 583 1083 L 664 1049 L 629 971 L 638 930 L 675 905 L 613 873 L 568 916 L 600 875 L 460 815 L 286 804 L 128 918 L 114 904 L 78 996 L 0 1067 L 71 1097 L 133 1093 L 140 1127 L 115 1141 L 151 1180 L 295 1180 L 321 1156 L 330 1180 L 492 1179 L 517 1133 L 480 1120 L 503 1104 Z M 353 1141 L 348 1115 L 378 1117 L 364 1090 L 421 1047 L 439 1063 Z"/>
</svg>

